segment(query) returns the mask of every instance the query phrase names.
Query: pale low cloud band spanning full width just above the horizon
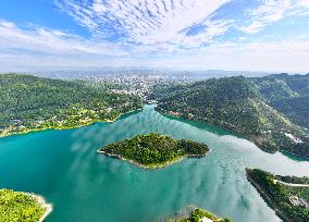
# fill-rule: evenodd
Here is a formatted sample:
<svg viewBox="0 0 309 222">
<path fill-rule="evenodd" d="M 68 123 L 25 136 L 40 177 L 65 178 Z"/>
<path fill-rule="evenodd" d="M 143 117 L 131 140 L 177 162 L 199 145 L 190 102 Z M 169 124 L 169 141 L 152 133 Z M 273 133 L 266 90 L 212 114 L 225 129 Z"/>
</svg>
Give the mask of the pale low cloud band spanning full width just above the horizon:
<svg viewBox="0 0 309 222">
<path fill-rule="evenodd" d="M 170 45 L 164 46 L 169 50 Z M 140 50 L 148 50 L 138 48 Z M 160 50 L 160 49 L 159 49 Z M 174 50 L 172 47 L 171 51 Z M 309 40 L 292 39 L 272 42 L 224 42 L 194 50 L 178 50 L 145 57 L 144 51 L 129 57 L 102 57 L 98 53 L 36 54 L 0 50 L 0 66 L 12 67 L 86 67 L 150 66 L 176 70 L 249 70 L 273 72 L 308 72 Z"/>
</svg>

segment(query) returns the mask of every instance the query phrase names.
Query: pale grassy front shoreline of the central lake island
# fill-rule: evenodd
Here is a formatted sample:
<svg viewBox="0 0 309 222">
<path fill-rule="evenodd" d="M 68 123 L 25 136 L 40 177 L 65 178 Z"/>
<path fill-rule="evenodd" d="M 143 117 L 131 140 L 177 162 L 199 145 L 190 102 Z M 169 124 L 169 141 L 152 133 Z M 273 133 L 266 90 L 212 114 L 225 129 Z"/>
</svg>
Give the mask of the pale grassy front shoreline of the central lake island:
<svg viewBox="0 0 309 222">
<path fill-rule="evenodd" d="M 207 156 L 207 155 L 203 155 L 203 156 L 199 156 L 199 155 L 190 155 L 190 156 L 188 156 L 188 155 L 186 155 L 186 156 L 180 156 L 180 157 L 174 158 L 173 160 L 166 161 L 164 163 L 153 163 L 153 164 L 150 164 L 150 165 L 144 165 L 144 164 L 141 164 L 139 162 L 136 162 L 134 160 L 126 159 L 126 158 L 124 158 L 124 157 L 122 157 L 120 155 L 112 155 L 112 153 L 106 152 L 104 150 L 98 149 L 97 152 L 98 153 L 103 153 L 107 157 L 118 158 L 120 160 L 127 161 L 127 162 L 129 162 L 129 163 L 132 163 L 134 165 L 137 165 L 137 166 L 139 166 L 141 169 L 145 169 L 145 170 L 156 170 L 156 169 L 160 169 L 160 168 L 165 168 L 165 166 L 172 165 L 172 164 L 174 164 L 176 162 L 180 162 L 180 161 L 182 161 L 185 158 L 190 158 L 190 157 L 191 158 L 202 158 L 202 157 Z"/>
</svg>

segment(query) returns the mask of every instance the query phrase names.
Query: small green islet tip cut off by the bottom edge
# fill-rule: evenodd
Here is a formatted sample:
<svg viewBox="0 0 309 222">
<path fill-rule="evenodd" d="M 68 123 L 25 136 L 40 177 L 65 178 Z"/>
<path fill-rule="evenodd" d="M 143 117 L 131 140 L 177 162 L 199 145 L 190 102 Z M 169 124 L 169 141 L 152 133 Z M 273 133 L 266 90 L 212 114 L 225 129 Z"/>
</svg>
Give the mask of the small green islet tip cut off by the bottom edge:
<svg viewBox="0 0 309 222">
<path fill-rule="evenodd" d="M 226 218 L 222 219 L 203 209 L 195 208 L 189 212 L 189 215 L 168 219 L 168 222 L 232 222 L 232 220 Z"/>
</svg>

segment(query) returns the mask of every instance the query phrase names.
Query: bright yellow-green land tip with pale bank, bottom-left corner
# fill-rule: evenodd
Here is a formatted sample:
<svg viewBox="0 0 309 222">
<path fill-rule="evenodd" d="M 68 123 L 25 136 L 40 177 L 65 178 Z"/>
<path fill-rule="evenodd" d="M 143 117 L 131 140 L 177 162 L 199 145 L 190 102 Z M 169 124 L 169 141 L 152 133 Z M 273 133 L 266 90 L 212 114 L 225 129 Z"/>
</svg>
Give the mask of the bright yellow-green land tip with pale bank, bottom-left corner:
<svg viewBox="0 0 309 222">
<path fill-rule="evenodd" d="M 51 212 L 52 206 L 41 196 L 0 189 L 0 221 L 41 222 Z"/>
</svg>

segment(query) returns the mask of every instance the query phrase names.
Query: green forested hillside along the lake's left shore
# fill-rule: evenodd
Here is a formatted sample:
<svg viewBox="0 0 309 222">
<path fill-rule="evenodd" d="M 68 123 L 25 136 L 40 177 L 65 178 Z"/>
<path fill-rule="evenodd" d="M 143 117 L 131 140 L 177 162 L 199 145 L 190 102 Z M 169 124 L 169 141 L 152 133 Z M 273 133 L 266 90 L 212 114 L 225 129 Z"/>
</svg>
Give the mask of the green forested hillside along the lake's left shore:
<svg viewBox="0 0 309 222">
<path fill-rule="evenodd" d="M 143 108 L 140 97 L 107 89 L 81 81 L 0 75 L 0 137 L 115 121 Z"/>
</svg>

